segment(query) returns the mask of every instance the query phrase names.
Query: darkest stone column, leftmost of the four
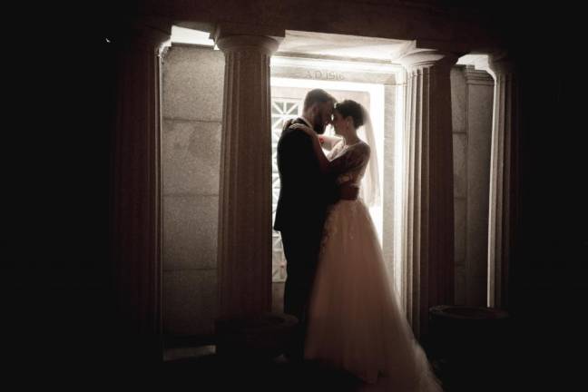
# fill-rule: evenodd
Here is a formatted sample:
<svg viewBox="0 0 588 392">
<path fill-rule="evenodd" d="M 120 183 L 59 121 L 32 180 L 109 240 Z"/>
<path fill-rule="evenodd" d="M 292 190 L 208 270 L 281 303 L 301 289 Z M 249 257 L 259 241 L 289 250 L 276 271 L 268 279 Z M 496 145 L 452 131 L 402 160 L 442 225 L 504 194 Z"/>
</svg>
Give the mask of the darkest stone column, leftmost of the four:
<svg viewBox="0 0 588 392">
<path fill-rule="evenodd" d="M 122 349 L 162 359 L 160 47 L 171 26 L 135 25 L 114 38 L 112 244 Z"/>
</svg>

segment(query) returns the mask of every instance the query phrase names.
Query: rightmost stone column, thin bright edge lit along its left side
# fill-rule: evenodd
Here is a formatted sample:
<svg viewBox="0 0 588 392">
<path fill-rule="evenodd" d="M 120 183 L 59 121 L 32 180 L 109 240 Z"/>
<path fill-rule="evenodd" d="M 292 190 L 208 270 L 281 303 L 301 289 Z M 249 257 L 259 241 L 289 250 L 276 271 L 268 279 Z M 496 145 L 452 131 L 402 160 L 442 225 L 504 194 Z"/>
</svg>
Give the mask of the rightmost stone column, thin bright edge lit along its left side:
<svg viewBox="0 0 588 392">
<path fill-rule="evenodd" d="M 509 262 L 518 220 L 519 86 L 515 66 L 505 54 L 491 55 L 489 66 L 495 79 L 495 98 L 490 159 L 488 306 L 506 309 Z"/>
</svg>

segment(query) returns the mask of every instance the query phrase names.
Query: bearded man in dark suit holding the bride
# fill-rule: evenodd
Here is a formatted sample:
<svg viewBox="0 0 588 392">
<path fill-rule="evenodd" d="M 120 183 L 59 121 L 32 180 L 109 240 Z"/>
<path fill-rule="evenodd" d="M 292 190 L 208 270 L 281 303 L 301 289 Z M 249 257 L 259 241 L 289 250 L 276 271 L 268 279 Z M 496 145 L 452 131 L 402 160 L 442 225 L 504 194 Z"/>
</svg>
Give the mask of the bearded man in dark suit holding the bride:
<svg viewBox="0 0 588 392">
<path fill-rule="evenodd" d="M 310 291 L 328 204 L 357 199 L 358 189 L 338 186 L 333 176 L 322 174 L 311 136 L 292 125 L 304 125 L 322 134 L 331 122 L 335 103 L 324 90 L 309 91 L 302 116 L 285 124 L 278 142 L 280 190 L 274 229 L 280 231 L 287 260 L 284 312 L 299 319 L 299 330 L 289 349 L 289 357 L 294 359 L 303 356 Z"/>
</svg>

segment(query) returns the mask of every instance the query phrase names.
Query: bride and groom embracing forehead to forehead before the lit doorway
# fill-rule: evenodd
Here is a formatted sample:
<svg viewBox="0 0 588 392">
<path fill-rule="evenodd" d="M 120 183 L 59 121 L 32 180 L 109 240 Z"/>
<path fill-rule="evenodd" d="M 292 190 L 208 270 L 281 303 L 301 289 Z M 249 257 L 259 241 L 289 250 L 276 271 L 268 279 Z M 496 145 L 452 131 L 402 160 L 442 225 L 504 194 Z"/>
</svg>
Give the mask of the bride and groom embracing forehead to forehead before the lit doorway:
<svg viewBox="0 0 588 392">
<path fill-rule="evenodd" d="M 339 137 L 323 135 L 328 124 Z M 389 286 L 366 205 L 379 195 L 373 140 L 359 103 L 337 103 L 320 89 L 307 93 L 302 116 L 279 138 L 274 229 L 288 263 L 284 312 L 299 319 L 289 358 L 323 361 L 390 390 L 440 391 Z"/>
</svg>

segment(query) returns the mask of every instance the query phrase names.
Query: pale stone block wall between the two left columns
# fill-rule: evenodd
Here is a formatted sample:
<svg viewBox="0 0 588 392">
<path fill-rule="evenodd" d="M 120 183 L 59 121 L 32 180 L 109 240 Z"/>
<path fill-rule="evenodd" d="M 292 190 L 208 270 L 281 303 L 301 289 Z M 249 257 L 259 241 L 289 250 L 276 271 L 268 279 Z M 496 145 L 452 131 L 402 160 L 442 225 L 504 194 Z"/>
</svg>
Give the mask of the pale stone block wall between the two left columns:
<svg viewBox="0 0 588 392">
<path fill-rule="evenodd" d="M 162 68 L 163 328 L 213 331 L 224 56 L 171 46 Z"/>
</svg>

